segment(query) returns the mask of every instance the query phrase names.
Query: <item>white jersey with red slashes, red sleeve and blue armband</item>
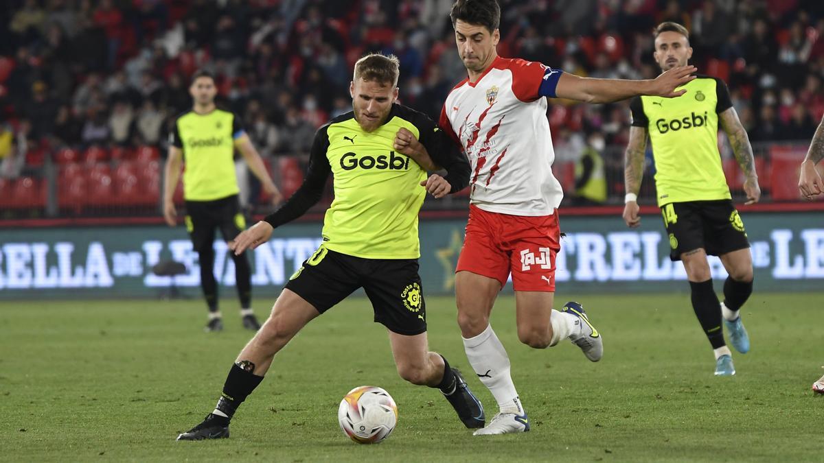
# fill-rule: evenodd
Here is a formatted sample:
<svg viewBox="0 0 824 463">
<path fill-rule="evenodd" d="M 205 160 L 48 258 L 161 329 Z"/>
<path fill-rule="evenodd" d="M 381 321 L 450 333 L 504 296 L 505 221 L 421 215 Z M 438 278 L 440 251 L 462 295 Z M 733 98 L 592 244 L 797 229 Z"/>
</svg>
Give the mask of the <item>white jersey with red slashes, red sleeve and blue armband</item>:
<svg viewBox="0 0 824 463">
<path fill-rule="evenodd" d="M 477 82 L 447 96 L 440 126 L 461 144 L 472 165 L 471 203 L 493 213 L 545 216 L 564 191 L 552 162 L 546 98 L 559 69 L 519 58 L 495 58 Z"/>
</svg>

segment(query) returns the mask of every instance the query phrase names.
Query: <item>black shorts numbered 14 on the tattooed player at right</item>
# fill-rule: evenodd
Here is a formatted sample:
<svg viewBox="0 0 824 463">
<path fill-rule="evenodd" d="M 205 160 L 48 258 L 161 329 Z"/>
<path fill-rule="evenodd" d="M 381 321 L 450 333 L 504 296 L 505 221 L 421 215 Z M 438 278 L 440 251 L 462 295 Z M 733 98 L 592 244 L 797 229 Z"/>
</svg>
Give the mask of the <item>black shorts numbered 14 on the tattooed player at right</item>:
<svg viewBox="0 0 824 463">
<path fill-rule="evenodd" d="M 671 260 L 681 260 L 681 254 L 699 248 L 708 255 L 724 255 L 750 247 L 731 199 L 664 204 L 661 215 L 669 233 Z"/>
</svg>

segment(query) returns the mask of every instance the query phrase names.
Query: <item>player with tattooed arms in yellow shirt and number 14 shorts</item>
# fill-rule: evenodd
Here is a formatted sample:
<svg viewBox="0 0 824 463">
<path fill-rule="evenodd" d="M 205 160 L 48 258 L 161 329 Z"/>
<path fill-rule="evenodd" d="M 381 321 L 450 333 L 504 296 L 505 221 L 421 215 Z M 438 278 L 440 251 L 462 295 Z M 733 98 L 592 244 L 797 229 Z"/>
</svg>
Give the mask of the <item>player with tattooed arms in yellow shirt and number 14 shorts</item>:
<svg viewBox="0 0 824 463">
<path fill-rule="evenodd" d="M 663 22 L 656 28 L 654 58 L 662 71 L 686 65 L 691 56 L 690 34 L 684 26 Z M 624 220 L 629 227 L 640 224 L 637 199 L 649 136 L 658 206 L 672 248 L 670 258 L 684 263 L 692 308 L 714 350 L 715 374 L 729 376 L 735 374 L 735 368 L 724 342 L 722 320 L 733 347 L 747 353 L 750 339 L 739 310 L 752 292 L 752 256 L 721 168 L 719 125 L 746 176 L 747 204 L 758 201 L 761 189 L 747 131 L 738 120 L 724 82 L 698 76 L 679 88 L 686 93 L 677 98 L 640 96 L 630 104 Z M 707 255 L 718 255 L 729 274 L 721 303 L 713 288 Z"/>
</svg>

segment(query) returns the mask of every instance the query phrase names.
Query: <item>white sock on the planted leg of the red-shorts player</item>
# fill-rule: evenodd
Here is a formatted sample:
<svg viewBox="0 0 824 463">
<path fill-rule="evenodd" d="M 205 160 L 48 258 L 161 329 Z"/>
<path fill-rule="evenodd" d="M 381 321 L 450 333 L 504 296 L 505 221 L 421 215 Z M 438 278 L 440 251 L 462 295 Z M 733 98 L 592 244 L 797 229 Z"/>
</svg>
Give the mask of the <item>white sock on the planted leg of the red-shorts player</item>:
<svg viewBox="0 0 824 463">
<path fill-rule="evenodd" d="M 507 409 L 506 413 L 510 413 L 509 409 L 520 407 L 512 376 L 509 375 L 509 356 L 492 325 L 474 338 L 463 338 L 463 341 L 466 358 L 480 382 L 498 402 L 501 412 Z"/>
</svg>

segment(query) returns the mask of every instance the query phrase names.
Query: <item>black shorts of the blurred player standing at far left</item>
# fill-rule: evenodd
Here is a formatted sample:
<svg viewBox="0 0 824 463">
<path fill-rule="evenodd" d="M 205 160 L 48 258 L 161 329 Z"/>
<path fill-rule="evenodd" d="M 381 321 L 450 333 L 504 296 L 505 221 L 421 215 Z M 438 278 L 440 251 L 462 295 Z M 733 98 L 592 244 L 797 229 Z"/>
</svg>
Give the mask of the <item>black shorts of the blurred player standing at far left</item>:
<svg viewBox="0 0 824 463">
<path fill-rule="evenodd" d="M 246 229 L 246 218 L 241 213 L 237 195 L 214 201 L 186 201 L 186 231 L 195 251 L 211 248 L 214 230 L 218 228 L 223 240 L 232 241 Z"/>
</svg>

